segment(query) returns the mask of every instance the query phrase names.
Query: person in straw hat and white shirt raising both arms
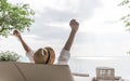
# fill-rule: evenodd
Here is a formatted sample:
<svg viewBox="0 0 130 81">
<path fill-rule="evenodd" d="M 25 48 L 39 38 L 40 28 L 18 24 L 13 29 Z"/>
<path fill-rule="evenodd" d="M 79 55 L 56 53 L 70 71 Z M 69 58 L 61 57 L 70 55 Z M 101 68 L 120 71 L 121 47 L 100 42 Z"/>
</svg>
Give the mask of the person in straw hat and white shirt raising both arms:
<svg viewBox="0 0 130 81">
<path fill-rule="evenodd" d="M 69 22 L 69 26 L 70 26 L 72 30 L 70 30 L 69 37 L 68 37 L 64 48 L 62 49 L 62 51 L 60 53 L 60 56 L 57 59 L 58 65 L 67 65 L 67 63 L 69 60 L 69 57 L 70 57 L 69 51 L 73 45 L 76 32 L 79 28 L 79 23 L 76 22 L 76 19 L 72 19 Z M 14 30 L 13 35 L 16 36 L 18 38 L 18 40 L 21 41 L 24 50 L 26 51 L 26 55 L 31 63 L 37 63 L 37 64 L 53 64 L 54 63 L 55 54 L 54 54 L 54 51 L 52 48 L 39 49 L 38 51 L 34 52 L 27 45 L 27 43 L 25 43 L 21 33 L 17 30 Z"/>
</svg>

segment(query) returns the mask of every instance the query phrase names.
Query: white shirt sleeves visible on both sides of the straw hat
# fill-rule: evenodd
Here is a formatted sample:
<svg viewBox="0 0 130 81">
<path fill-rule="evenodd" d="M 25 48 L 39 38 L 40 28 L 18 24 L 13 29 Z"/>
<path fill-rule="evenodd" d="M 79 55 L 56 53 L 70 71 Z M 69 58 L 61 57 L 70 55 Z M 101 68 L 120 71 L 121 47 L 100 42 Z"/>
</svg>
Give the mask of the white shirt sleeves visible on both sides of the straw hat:
<svg viewBox="0 0 130 81">
<path fill-rule="evenodd" d="M 30 63 L 35 63 L 34 60 L 34 51 L 27 52 L 26 56 L 29 58 Z M 57 65 L 67 65 L 68 60 L 70 58 L 69 51 L 62 50 L 57 59 Z"/>
</svg>

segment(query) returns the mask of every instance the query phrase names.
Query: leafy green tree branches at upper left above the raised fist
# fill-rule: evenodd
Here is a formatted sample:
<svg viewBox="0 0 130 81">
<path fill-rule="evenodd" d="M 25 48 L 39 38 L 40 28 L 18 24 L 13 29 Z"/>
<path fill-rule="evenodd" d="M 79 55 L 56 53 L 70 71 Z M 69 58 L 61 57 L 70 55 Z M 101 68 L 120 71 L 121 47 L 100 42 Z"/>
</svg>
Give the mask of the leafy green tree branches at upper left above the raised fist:
<svg viewBox="0 0 130 81">
<path fill-rule="evenodd" d="M 11 4 L 0 0 L 0 36 L 8 37 L 12 30 L 29 30 L 34 15 L 29 4 Z"/>
</svg>

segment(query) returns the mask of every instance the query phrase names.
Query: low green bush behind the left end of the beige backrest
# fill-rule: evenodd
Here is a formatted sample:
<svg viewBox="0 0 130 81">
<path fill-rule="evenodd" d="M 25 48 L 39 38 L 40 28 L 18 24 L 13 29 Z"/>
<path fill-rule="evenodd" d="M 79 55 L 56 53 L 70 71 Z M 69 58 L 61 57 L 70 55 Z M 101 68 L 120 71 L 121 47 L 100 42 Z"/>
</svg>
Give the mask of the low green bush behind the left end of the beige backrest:
<svg viewBox="0 0 130 81">
<path fill-rule="evenodd" d="M 1 52 L 0 53 L 0 60 L 5 60 L 5 62 L 16 62 L 17 59 L 20 59 L 20 55 L 17 53 L 14 52 Z"/>
</svg>

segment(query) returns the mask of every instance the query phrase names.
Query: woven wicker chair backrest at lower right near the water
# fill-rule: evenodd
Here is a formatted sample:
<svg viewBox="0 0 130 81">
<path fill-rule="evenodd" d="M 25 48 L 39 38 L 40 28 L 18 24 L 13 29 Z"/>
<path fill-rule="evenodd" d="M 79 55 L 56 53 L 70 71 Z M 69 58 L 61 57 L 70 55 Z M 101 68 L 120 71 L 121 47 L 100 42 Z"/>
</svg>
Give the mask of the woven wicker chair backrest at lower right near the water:
<svg viewBox="0 0 130 81">
<path fill-rule="evenodd" d="M 98 81 L 115 81 L 115 69 L 109 67 L 98 67 L 96 80 Z"/>
</svg>

